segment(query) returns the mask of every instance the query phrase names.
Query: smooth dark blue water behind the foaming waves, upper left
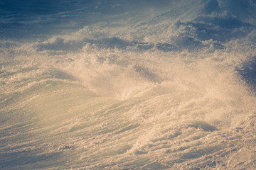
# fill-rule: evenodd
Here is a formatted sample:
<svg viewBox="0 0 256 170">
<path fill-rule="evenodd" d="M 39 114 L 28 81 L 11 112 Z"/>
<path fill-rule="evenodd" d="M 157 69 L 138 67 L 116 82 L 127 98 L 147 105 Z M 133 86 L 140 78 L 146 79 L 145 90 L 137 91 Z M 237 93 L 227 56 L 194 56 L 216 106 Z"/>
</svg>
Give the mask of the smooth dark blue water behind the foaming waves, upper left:
<svg viewBox="0 0 256 170">
<path fill-rule="evenodd" d="M 1 1 L 1 38 L 67 33 L 97 22 L 128 19 L 168 1 Z"/>
</svg>

